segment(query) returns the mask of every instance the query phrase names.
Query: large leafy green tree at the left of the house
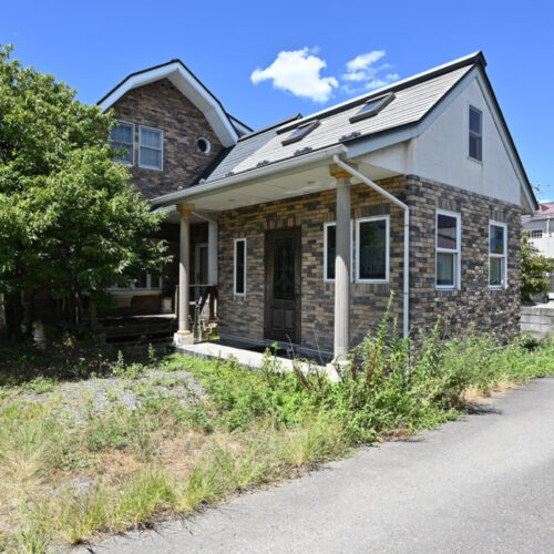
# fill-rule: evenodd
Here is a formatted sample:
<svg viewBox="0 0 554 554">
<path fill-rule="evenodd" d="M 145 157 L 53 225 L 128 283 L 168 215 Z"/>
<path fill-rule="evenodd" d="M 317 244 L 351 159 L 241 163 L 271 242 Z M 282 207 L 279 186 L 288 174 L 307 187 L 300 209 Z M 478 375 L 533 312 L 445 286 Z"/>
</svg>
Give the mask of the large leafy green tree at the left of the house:
<svg viewBox="0 0 554 554">
<path fill-rule="evenodd" d="M 107 284 L 160 269 L 160 216 L 112 161 L 111 114 L 11 50 L 0 45 L 0 293 L 8 314 L 21 291 L 101 304 Z"/>
</svg>

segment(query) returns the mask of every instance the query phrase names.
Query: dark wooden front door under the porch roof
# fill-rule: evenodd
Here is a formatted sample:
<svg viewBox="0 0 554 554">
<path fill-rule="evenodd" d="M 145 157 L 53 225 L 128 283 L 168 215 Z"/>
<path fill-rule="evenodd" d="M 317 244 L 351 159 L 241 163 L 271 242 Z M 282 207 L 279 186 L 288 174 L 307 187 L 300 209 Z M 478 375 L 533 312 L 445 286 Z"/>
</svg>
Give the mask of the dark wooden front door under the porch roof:
<svg viewBox="0 0 554 554">
<path fill-rule="evenodd" d="M 300 341 L 299 228 L 266 233 L 265 338 Z"/>
</svg>

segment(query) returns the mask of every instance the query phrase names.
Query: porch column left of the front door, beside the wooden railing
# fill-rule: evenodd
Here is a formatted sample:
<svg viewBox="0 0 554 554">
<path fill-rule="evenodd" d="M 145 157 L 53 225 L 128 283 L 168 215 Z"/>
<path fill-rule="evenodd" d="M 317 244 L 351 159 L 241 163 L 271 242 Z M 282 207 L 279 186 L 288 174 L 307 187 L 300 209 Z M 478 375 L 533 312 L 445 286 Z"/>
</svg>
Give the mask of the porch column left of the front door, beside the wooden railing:
<svg viewBox="0 0 554 554">
<path fill-rule="evenodd" d="M 175 346 L 192 345 L 194 335 L 188 324 L 191 285 L 191 204 L 179 204 L 181 214 L 179 259 L 178 259 L 178 330 L 174 335 Z"/>
</svg>

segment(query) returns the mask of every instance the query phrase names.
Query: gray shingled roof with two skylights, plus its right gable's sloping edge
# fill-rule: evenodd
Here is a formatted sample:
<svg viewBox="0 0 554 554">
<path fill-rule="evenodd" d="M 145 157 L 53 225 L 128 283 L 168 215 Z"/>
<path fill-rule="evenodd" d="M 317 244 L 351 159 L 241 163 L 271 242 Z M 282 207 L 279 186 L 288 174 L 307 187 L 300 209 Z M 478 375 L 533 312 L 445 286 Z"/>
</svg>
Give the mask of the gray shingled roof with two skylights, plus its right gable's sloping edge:
<svg viewBox="0 0 554 554">
<path fill-rule="evenodd" d="M 475 52 L 306 117 L 295 116 L 293 120 L 242 136 L 217 167 L 209 174 L 206 172 L 203 181 L 198 184 L 234 176 L 239 177 L 243 174 L 246 176 L 247 173 L 260 167 L 280 164 L 284 161 L 301 157 L 335 145 L 343 144 L 352 147 L 378 137 L 390 137 L 390 144 L 402 142 L 409 137 L 408 133 L 402 134 L 403 131 L 414 130 L 413 132 L 417 132 L 420 124 L 429 117 L 449 93 L 470 72 L 478 69 L 484 78 L 494 109 L 507 137 L 507 147 L 520 171 L 527 201 L 536 209 L 536 198 L 484 71 L 485 65 L 483 53 Z M 388 103 L 377 115 L 355 122 L 350 121 L 362 104 L 390 93 L 394 94 L 393 101 Z M 283 144 L 283 141 L 290 136 L 295 129 L 315 121 L 318 121 L 319 125 L 301 141 Z"/>
</svg>

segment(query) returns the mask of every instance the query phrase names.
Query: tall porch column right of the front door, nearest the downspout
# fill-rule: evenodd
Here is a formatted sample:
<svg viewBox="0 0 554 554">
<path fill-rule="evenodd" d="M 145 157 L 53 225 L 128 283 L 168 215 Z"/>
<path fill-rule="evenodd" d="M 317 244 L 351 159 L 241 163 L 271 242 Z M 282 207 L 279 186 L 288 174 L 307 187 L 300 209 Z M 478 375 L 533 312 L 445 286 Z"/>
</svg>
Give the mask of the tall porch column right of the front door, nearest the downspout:
<svg viewBox="0 0 554 554">
<path fill-rule="evenodd" d="M 334 363 L 347 361 L 350 342 L 350 174 L 331 165 L 337 179 L 337 227 L 335 258 L 335 340 Z"/>
</svg>

